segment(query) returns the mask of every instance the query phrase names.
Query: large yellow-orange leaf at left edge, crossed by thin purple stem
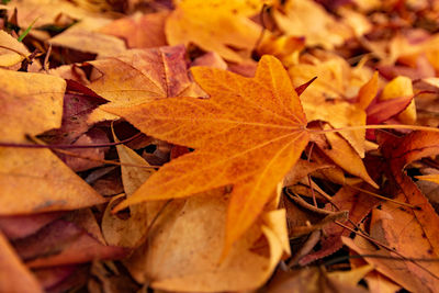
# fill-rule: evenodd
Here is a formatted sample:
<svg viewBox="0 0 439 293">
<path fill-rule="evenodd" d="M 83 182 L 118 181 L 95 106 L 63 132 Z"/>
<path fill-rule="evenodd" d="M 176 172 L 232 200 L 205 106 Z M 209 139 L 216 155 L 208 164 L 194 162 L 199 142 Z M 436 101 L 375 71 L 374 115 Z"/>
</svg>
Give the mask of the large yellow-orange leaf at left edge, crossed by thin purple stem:
<svg viewBox="0 0 439 293">
<path fill-rule="evenodd" d="M 0 77 L 2 142 L 29 143 L 25 134 L 60 126 L 63 79 L 3 69 Z M 44 148 L 0 147 L 0 182 L 2 215 L 75 210 L 106 201 Z M 18 194 L 26 200 L 18 200 Z"/>
</svg>

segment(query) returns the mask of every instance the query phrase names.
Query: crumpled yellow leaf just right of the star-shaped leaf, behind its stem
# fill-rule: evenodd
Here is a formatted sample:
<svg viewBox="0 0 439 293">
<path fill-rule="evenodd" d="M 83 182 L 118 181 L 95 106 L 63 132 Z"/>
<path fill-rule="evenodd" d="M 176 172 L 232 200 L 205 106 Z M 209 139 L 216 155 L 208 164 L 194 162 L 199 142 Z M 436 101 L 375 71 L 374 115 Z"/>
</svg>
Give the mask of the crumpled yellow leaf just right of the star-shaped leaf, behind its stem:
<svg viewBox="0 0 439 293">
<path fill-rule="evenodd" d="M 364 69 L 357 74 L 339 56 L 328 53 L 322 55 L 318 59 L 304 55 L 303 61 L 289 68 L 294 87 L 317 77 L 301 94 L 308 122 L 325 121 L 335 128 L 365 125 L 364 110 L 349 103 L 346 95 L 352 88 L 359 91 L 370 79 L 371 72 Z M 367 79 L 363 81 L 364 78 Z M 358 92 L 354 91 L 354 94 L 357 95 Z M 349 142 L 361 158 L 364 157 L 364 129 L 340 131 L 339 134 Z"/>
</svg>

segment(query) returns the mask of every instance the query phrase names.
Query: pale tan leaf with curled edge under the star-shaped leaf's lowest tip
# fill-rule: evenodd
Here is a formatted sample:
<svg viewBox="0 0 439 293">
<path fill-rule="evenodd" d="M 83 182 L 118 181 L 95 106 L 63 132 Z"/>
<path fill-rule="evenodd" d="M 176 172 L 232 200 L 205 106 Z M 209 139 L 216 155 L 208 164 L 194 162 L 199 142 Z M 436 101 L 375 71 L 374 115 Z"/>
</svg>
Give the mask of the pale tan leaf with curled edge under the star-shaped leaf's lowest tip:
<svg viewBox="0 0 439 293">
<path fill-rule="evenodd" d="M 227 204 L 224 189 L 170 203 L 145 247 L 125 262 L 133 277 L 166 291 L 246 291 L 260 286 L 285 249 L 284 211 L 266 214 L 271 221 L 254 225 L 219 262 Z M 252 248 L 261 235 L 267 240 L 258 247 L 263 253 L 257 253 Z"/>
</svg>

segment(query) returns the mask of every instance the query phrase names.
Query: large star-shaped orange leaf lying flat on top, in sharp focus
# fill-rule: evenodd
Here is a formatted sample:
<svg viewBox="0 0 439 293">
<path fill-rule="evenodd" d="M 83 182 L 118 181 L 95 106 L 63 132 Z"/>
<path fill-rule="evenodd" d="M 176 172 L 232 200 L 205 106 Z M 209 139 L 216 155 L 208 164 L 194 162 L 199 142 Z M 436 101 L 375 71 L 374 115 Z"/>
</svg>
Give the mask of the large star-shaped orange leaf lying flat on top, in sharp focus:
<svg viewBox="0 0 439 293">
<path fill-rule="evenodd" d="M 210 99 L 104 108 L 148 135 L 195 149 L 165 165 L 116 210 L 233 184 L 226 251 L 272 199 L 309 134 L 299 97 L 274 57 L 261 58 L 255 78 L 204 67 L 192 74 Z"/>
</svg>

